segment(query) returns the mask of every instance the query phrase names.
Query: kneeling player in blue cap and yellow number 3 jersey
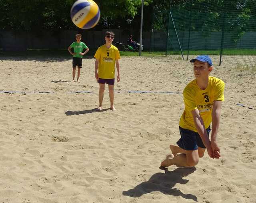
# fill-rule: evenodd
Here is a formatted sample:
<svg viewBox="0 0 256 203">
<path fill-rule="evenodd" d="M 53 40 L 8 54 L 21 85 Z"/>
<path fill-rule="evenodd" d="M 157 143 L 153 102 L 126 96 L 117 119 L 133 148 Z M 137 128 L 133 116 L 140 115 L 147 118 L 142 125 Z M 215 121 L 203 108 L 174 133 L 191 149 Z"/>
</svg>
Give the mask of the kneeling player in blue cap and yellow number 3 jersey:
<svg viewBox="0 0 256 203">
<path fill-rule="evenodd" d="M 213 67 L 209 56 L 200 55 L 190 62 L 194 63 L 196 79 L 183 91 L 185 110 L 179 123 L 181 138 L 177 142 L 178 146 L 170 145 L 172 153 L 162 161 L 161 167 L 195 166 L 199 157 L 204 156 L 205 149 L 211 158 L 220 157 L 216 138 L 225 84 L 222 80 L 210 76 Z M 212 123 L 211 139 L 209 139 L 210 123 Z"/>
</svg>

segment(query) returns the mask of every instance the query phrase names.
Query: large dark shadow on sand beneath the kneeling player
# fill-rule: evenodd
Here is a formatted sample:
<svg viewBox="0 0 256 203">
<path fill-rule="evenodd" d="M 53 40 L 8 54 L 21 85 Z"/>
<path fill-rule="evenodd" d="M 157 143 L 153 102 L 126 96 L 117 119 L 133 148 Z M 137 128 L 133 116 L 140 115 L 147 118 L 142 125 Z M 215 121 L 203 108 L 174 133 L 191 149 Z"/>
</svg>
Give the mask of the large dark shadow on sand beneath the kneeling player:
<svg viewBox="0 0 256 203">
<path fill-rule="evenodd" d="M 188 180 L 182 179 L 182 177 L 186 177 L 194 171 L 196 171 L 196 167 L 177 168 L 173 171 L 168 171 L 168 169 L 165 168 L 165 173 L 155 173 L 150 177 L 148 181 L 140 183 L 128 191 L 123 191 L 123 195 L 130 197 L 140 197 L 143 194 L 150 193 L 152 191 L 160 191 L 166 195 L 182 196 L 185 199 L 192 199 L 197 201 L 197 197 L 195 195 L 184 194 L 179 189 L 172 188 L 174 185 L 176 185 L 176 183 L 188 183 Z"/>
</svg>

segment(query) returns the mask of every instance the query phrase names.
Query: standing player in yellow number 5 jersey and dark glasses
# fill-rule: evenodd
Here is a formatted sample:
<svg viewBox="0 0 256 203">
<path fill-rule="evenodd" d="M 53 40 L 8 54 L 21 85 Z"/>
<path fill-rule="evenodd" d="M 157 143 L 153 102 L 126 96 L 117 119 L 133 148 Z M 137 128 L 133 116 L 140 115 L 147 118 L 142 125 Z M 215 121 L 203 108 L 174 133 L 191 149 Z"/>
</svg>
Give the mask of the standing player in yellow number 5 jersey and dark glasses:
<svg viewBox="0 0 256 203">
<path fill-rule="evenodd" d="M 100 84 L 99 90 L 99 107 L 98 111 L 103 109 L 102 102 L 105 90 L 105 83 L 108 84 L 110 109 L 115 110 L 114 107 L 114 84 L 115 84 L 115 64 L 117 70 L 117 82 L 120 81 L 120 68 L 119 62 L 120 54 L 118 48 L 116 48 L 112 42 L 115 34 L 107 31 L 105 34 L 106 44 L 100 46 L 96 51 L 94 57 L 95 60 L 95 78 Z"/>
</svg>

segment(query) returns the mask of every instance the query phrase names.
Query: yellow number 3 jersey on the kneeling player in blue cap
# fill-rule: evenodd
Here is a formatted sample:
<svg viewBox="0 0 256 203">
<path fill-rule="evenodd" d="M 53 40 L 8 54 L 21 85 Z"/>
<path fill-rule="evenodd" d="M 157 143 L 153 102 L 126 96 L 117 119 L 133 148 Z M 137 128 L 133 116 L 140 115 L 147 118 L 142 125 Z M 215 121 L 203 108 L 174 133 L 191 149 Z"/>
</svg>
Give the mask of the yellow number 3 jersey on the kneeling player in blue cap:
<svg viewBox="0 0 256 203">
<path fill-rule="evenodd" d="M 212 122 L 212 105 L 215 100 L 224 101 L 225 84 L 222 80 L 209 77 L 208 87 L 201 90 L 196 80 L 190 82 L 183 90 L 185 110 L 180 118 L 180 127 L 197 132 L 191 111 L 198 109 L 207 128 Z"/>
</svg>

